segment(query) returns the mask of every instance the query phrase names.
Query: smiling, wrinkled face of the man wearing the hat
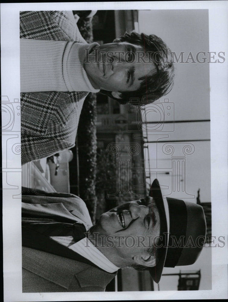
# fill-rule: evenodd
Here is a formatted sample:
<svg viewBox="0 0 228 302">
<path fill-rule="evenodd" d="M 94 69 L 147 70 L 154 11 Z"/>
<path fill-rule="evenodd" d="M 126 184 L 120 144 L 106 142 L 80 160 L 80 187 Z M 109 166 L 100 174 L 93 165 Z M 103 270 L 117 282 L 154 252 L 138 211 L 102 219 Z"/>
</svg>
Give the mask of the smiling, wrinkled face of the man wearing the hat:
<svg viewBox="0 0 228 302">
<path fill-rule="evenodd" d="M 151 201 L 152 198 L 146 197 L 120 205 L 102 214 L 95 225 L 93 232 L 105 238 L 104 244 L 108 237 L 113 242 L 111 248 L 101 248 L 100 251 L 114 264 L 128 266 L 143 257 L 142 261 L 153 266 L 152 260 L 156 259 L 151 259 L 146 251 L 153 247 L 153 239 L 159 236 L 160 218 L 155 203 Z"/>
</svg>

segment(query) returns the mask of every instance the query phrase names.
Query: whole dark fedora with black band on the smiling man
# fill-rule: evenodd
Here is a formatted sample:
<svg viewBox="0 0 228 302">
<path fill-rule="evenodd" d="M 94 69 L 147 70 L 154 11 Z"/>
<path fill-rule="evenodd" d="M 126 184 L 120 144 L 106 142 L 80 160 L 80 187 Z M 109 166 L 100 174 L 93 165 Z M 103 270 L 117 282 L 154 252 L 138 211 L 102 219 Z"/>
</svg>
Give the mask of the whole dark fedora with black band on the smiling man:
<svg viewBox="0 0 228 302">
<path fill-rule="evenodd" d="M 149 196 L 159 210 L 161 244 L 157 249 L 158 263 L 148 270 L 159 283 L 164 267 L 191 265 L 197 260 L 205 242 L 206 219 L 198 204 L 168 197 L 163 200 L 157 179 L 150 187 Z"/>
</svg>

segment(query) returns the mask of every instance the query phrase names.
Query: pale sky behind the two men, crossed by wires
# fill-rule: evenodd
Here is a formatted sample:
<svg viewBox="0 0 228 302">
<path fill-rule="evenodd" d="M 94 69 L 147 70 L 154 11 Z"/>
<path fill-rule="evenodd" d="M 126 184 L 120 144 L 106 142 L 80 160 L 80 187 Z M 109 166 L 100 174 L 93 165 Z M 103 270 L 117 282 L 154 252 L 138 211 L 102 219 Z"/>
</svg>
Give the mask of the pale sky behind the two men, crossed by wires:
<svg viewBox="0 0 228 302">
<path fill-rule="evenodd" d="M 139 31 L 145 34 L 156 34 L 177 54 L 185 52 L 184 61 L 189 52 L 196 58 L 200 51 L 209 51 L 208 10 L 147 10 L 139 11 Z M 221 50 L 222 51 L 222 50 Z M 201 58 L 201 57 L 200 57 Z M 189 60 L 191 62 L 191 60 Z M 210 82 L 209 64 L 177 63 L 175 64 L 175 82 L 172 91 L 164 98 L 173 104 L 173 114 L 166 115 L 166 120 L 209 120 L 210 119 Z M 163 102 L 164 98 L 160 101 Z M 153 104 L 147 105 L 147 121 L 158 121 L 159 111 L 153 112 Z M 166 104 L 163 105 L 165 108 Z M 171 109 L 172 110 L 172 109 Z M 160 111 L 161 112 L 161 111 Z M 163 117 L 162 117 L 163 118 Z M 149 141 L 154 141 L 152 134 L 168 134 L 168 140 L 210 140 L 210 122 L 166 124 L 168 128 L 154 131 L 148 125 Z M 173 130 L 172 132 L 167 132 Z M 196 202 L 197 190 L 200 191 L 201 202 L 210 202 L 210 141 L 190 142 L 195 148 L 194 153 L 185 156 L 185 175 L 183 181 L 185 192 L 173 192 L 171 175 L 151 173 L 152 181 L 158 178 L 160 184 L 169 188 L 162 190 L 164 195 Z M 167 168 L 171 171 L 171 155 L 165 155 L 162 146 L 165 143 L 149 144 L 150 167 Z M 172 144 L 175 154 L 182 155 L 181 148 L 187 142 Z M 191 146 L 192 146 L 191 145 Z M 179 150 L 178 150 L 179 149 Z M 148 167 L 148 165 L 147 165 Z M 177 171 L 178 172 L 178 171 Z M 181 174 L 181 172 L 180 172 Z M 175 176 L 174 176 L 175 177 Z M 181 182 L 182 184 L 182 182 Z M 201 269 L 200 289 L 211 289 L 211 249 L 205 248 L 198 261 L 188 267 L 164 268 L 163 273 L 174 273 L 180 270 Z M 160 290 L 174 290 L 177 288 L 178 276 L 162 277 Z"/>
</svg>

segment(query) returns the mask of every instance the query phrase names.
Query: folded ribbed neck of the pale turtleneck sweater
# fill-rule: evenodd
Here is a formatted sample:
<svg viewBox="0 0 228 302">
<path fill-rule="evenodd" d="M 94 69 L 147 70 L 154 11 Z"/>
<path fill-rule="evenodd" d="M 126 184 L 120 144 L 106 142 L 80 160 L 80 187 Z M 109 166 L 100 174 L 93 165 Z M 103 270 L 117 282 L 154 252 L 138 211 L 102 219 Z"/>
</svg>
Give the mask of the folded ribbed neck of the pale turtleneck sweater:
<svg viewBox="0 0 228 302">
<path fill-rule="evenodd" d="M 77 42 L 68 42 L 63 53 L 63 78 L 68 91 L 88 91 L 99 92 L 90 83 L 88 76 L 83 68 L 86 55 L 92 49 L 99 45 L 94 42 L 92 44 L 83 44 Z"/>
</svg>

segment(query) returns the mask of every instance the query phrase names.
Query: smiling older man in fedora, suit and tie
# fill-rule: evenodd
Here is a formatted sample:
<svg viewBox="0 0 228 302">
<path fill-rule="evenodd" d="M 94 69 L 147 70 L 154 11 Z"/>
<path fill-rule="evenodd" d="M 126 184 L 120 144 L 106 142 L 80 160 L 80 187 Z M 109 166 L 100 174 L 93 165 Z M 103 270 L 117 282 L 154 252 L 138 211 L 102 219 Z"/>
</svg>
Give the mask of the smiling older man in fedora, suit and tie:
<svg viewBox="0 0 228 302">
<path fill-rule="evenodd" d="M 164 266 L 193 264 L 204 245 L 202 207 L 163 200 L 157 179 L 150 196 L 102 214 L 94 226 L 75 195 L 40 191 L 22 202 L 23 292 L 104 291 L 125 267 L 149 270 L 158 283 Z"/>
</svg>

